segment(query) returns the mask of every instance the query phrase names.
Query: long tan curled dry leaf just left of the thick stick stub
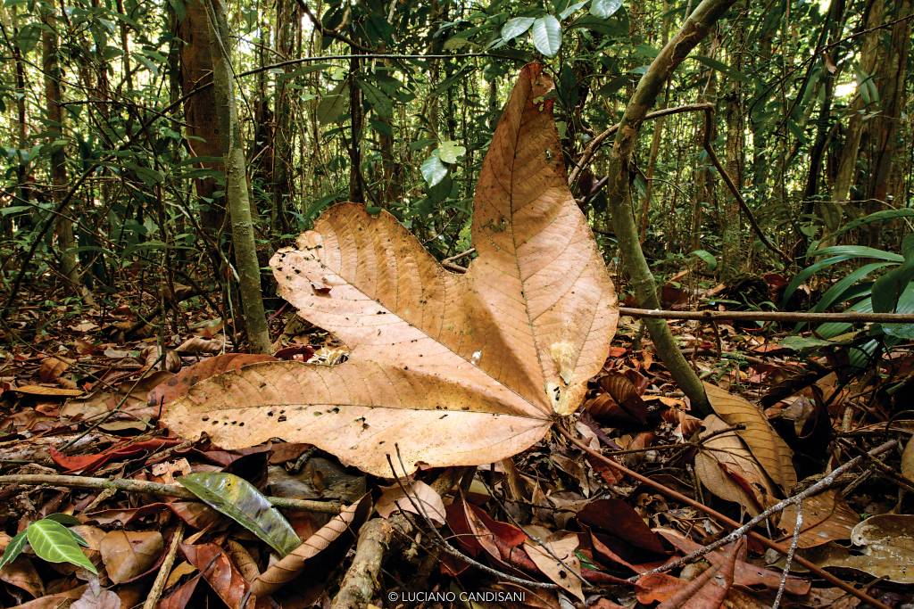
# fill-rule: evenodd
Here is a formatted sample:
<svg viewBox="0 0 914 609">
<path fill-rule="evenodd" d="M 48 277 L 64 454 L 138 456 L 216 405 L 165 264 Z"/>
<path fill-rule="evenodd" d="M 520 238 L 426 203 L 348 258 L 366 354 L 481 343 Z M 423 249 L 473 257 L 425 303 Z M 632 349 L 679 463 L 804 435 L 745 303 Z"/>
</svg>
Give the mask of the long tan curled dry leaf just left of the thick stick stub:
<svg viewBox="0 0 914 609">
<path fill-rule="evenodd" d="M 276 592 L 283 585 L 291 582 L 303 571 L 306 561 L 326 550 L 341 537 L 346 536 L 347 532 L 350 535 L 346 537 L 352 539 L 351 533 L 358 530 L 365 522 L 370 510 L 371 497 L 369 495 L 342 509 L 339 515 L 303 541 L 302 545 L 282 557 L 282 560 L 273 562 L 265 572 L 260 573 L 260 576 L 251 583 L 251 593 L 255 596 L 264 596 Z"/>
</svg>

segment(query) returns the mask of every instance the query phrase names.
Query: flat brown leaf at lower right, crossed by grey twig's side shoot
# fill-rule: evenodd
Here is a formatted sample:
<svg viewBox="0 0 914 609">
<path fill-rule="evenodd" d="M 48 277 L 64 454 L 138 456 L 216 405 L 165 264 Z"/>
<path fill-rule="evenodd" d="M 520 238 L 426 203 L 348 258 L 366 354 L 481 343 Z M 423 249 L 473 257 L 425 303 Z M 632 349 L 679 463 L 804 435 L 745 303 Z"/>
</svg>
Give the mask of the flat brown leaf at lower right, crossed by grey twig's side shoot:
<svg viewBox="0 0 914 609">
<path fill-rule="evenodd" d="M 790 539 L 796 527 L 797 508 L 790 505 L 781 512 L 778 528 Z M 835 540 L 848 540 L 860 517 L 836 490 L 826 490 L 802 502 L 802 528 L 798 548 L 813 548 Z"/>
</svg>

